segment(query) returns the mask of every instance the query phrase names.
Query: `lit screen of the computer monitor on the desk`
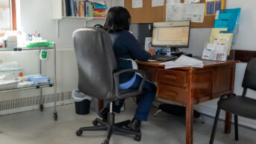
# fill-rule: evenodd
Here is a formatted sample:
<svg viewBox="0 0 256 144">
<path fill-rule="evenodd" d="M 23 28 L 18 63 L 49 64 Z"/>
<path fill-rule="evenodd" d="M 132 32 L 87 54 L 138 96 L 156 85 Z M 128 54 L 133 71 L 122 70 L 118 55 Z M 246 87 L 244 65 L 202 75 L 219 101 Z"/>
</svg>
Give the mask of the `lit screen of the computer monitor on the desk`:
<svg viewBox="0 0 256 144">
<path fill-rule="evenodd" d="M 188 48 L 190 21 L 155 22 L 153 24 L 153 47 Z"/>
</svg>

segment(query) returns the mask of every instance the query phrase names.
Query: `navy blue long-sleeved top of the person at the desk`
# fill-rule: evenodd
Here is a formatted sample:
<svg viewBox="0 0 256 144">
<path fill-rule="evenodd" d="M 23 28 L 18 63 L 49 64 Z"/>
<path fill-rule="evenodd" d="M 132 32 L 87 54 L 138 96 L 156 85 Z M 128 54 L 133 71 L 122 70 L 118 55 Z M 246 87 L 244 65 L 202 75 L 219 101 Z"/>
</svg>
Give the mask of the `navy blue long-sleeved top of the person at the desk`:
<svg viewBox="0 0 256 144">
<path fill-rule="evenodd" d="M 119 70 L 132 68 L 131 61 L 125 59 L 137 59 L 143 62 L 147 61 L 151 56 L 144 48 L 141 48 L 137 39 L 128 30 L 110 33 L 110 37 Z M 134 73 L 122 73 L 119 77 L 119 82 L 121 84 L 128 82 L 133 76 Z"/>
</svg>

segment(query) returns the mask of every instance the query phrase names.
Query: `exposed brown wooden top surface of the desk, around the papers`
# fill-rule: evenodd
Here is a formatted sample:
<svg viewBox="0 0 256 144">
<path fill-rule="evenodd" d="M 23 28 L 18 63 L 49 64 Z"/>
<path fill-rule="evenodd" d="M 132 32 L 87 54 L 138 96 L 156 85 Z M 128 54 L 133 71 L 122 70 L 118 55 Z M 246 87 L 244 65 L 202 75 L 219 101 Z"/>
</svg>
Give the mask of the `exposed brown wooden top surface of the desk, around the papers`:
<svg viewBox="0 0 256 144">
<path fill-rule="evenodd" d="M 222 62 L 222 61 L 213 61 L 213 60 L 207 60 L 207 59 L 200 59 L 200 58 L 196 58 L 199 60 L 202 60 L 204 63 L 204 68 L 209 68 L 209 67 L 215 67 L 215 66 L 221 66 L 221 65 L 231 65 L 231 64 L 235 64 L 238 63 L 240 61 L 238 60 L 228 60 L 226 62 Z M 160 61 L 155 61 L 155 62 L 140 62 L 137 61 L 138 65 L 144 65 L 144 66 L 151 66 L 151 67 L 157 67 L 157 68 L 164 68 L 164 65 L 160 65 Z M 182 67 L 182 68 L 175 68 L 175 69 L 198 69 L 198 68 L 193 68 L 193 67 Z"/>
</svg>

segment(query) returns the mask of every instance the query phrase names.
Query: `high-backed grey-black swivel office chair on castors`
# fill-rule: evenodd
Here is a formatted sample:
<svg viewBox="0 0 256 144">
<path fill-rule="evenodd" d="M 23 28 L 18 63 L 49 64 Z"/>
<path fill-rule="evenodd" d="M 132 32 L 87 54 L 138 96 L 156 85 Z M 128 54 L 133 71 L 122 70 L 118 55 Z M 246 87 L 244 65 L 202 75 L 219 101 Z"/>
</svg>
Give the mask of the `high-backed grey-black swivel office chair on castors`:
<svg viewBox="0 0 256 144">
<path fill-rule="evenodd" d="M 99 27 L 86 27 L 73 33 L 75 55 L 78 62 L 78 89 L 89 96 L 110 101 L 110 112 L 107 122 L 96 118 L 92 127 L 79 128 L 77 136 L 83 131 L 107 131 L 107 138 L 102 144 L 108 144 L 111 134 L 119 132 L 133 134 L 134 140 L 140 141 L 140 131 L 128 129 L 130 120 L 114 123 L 113 102 L 143 93 L 143 85 L 149 75 L 143 71 L 126 69 L 119 71 L 113 53 L 112 42 L 107 31 Z M 143 76 L 138 89 L 119 90 L 119 75 L 125 72 L 136 72 Z M 99 125 L 98 125 L 99 124 Z M 125 127 L 126 128 L 123 128 Z"/>
</svg>

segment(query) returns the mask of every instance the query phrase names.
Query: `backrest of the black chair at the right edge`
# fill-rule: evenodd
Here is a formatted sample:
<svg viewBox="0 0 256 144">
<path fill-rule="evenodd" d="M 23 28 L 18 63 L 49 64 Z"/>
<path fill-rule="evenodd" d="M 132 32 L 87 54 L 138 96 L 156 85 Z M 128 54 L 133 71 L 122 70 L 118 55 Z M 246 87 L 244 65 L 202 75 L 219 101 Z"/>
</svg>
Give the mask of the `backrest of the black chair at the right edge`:
<svg viewBox="0 0 256 144">
<path fill-rule="evenodd" d="M 242 86 L 256 91 L 256 58 L 248 62 Z"/>
</svg>

